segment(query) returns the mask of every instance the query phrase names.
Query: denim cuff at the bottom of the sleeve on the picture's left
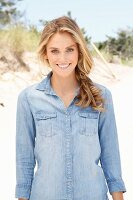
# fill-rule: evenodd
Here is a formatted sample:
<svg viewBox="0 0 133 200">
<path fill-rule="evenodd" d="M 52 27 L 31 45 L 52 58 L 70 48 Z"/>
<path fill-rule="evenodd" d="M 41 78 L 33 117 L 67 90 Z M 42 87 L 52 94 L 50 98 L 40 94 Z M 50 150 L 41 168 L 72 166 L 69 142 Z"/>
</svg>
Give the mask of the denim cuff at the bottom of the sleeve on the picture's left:
<svg viewBox="0 0 133 200">
<path fill-rule="evenodd" d="M 31 193 L 31 185 L 19 184 L 16 185 L 15 198 L 29 199 Z"/>
</svg>

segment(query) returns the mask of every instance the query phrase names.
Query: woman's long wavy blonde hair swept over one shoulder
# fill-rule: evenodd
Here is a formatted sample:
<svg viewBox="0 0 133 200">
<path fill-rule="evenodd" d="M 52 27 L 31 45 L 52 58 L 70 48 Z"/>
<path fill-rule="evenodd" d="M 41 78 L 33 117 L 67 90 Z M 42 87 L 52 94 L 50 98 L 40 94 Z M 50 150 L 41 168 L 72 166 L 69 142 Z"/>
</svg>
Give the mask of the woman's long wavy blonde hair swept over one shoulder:
<svg viewBox="0 0 133 200">
<path fill-rule="evenodd" d="M 49 39 L 57 32 L 69 33 L 78 46 L 79 59 L 75 68 L 75 73 L 77 81 L 80 85 L 80 92 L 77 96 L 75 104 L 77 106 L 81 106 L 82 108 L 86 108 L 90 105 L 95 110 L 103 111 L 104 100 L 102 98 L 101 91 L 88 77 L 88 74 L 93 66 L 93 60 L 87 48 L 83 34 L 73 19 L 63 16 L 46 24 L 39 43 L 38 53 L 40 59 L 43 63 L 49 65 L 48 60 L 45 59 L 46 46 Z"/>
</svg>

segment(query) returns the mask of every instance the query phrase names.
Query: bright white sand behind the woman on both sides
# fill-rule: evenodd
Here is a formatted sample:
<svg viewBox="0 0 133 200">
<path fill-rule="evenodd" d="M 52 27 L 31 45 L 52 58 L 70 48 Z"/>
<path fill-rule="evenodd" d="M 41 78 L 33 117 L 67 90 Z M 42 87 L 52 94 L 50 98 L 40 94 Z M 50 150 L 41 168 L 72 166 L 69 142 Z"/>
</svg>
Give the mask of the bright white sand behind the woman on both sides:
<svg viewBox="0 0 133 200">
<path fill-rule="evenodd" d="M 132 200 L 133 69 L 118 64 L 108 64 L 109 68 L 107 66 L 103 67 L 103 63 L 97 60 L 95 60 L 95 63 L 96 67 L 91 74 L 91 78 L 105 85 L 112 92 L 118 128 L 123 179 L 127 188 L 125 199 Z M 100 68 L 97 66 L 100 66 Z M 113 76 L 111 72 L 113 72 Z M 15 120 L 17 96 L 23 88 L 39 81 L 39 76 L 36 76 L 36 73 L 35 70 L 32 70 L 32 76 L 28 72 L 6 73 L 0 79 L 0 103 L 2 103 L 0 105 L 1 200 L 15 199 Z"/>
</svg>

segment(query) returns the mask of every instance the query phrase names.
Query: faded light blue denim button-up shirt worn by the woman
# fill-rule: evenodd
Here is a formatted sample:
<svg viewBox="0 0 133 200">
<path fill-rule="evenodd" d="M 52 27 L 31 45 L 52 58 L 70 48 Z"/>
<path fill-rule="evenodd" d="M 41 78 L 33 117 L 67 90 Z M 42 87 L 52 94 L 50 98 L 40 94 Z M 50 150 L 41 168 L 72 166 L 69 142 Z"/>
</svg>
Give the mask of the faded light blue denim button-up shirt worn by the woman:
<svg viewBox="0 0 133 200">
<path fill-rule="evenodd" d="M 110 91 L 98 85 L 105 112 L 76 106 L 76 95 L 66 108 L 50 77 L 18 97 L 16 198 L 106 200 L 108 189 L 125 191 Z"/>
</svg>

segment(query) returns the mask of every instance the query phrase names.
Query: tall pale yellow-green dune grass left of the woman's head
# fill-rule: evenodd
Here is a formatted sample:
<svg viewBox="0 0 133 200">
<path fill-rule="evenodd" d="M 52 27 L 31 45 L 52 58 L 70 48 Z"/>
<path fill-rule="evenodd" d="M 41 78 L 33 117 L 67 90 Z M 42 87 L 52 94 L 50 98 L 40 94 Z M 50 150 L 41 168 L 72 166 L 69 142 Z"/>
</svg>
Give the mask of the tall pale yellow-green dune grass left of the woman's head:
<svg viewBox="0 0 133 200">
<path fill-rule="evenodd" d="M 36 51 L 40 33 L 34 28 L 19 24 L 0 30 L 0 45 L 9 48 L 14 54 Z"/>
</svg>

